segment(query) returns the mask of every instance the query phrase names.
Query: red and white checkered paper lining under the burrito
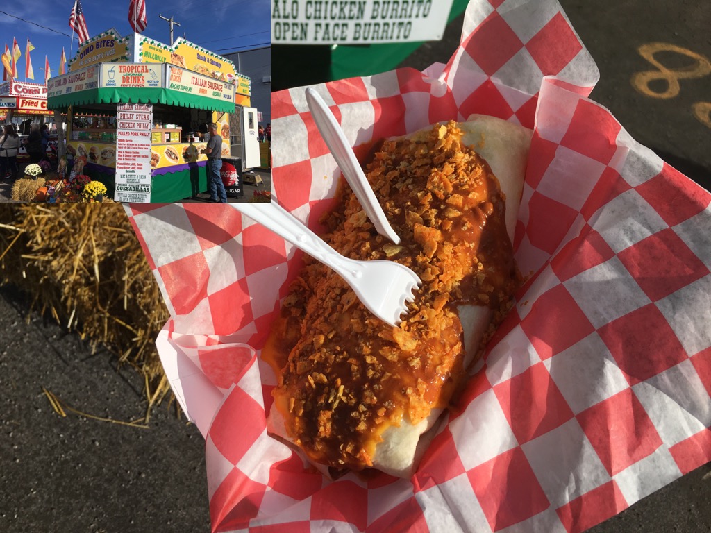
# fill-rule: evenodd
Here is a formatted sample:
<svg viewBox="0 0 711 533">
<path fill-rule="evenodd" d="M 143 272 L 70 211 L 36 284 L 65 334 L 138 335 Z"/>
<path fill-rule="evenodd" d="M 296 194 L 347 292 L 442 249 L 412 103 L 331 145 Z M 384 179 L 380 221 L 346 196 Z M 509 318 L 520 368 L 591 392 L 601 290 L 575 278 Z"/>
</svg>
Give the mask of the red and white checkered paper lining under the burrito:
<svg viewBox="0 0 711 533">
<path fill-rule="evenodd" d="M 361 155 L 472 113 L 535 128 L 515 234 L 532 276 L 412 479 L 328 481 L 267 435 L 258 355 L 300 252 L 229 206 L 127 207 L 214 532 L 580 532 L 711 460 L 711 195 L 587 99 L 595 82 L 557 2 L 472 0 L 447 65 L 316 87 Z M 274 195 L 318 229 L 338 171 L 303 89 L 272 116 Z"/>
</svg>

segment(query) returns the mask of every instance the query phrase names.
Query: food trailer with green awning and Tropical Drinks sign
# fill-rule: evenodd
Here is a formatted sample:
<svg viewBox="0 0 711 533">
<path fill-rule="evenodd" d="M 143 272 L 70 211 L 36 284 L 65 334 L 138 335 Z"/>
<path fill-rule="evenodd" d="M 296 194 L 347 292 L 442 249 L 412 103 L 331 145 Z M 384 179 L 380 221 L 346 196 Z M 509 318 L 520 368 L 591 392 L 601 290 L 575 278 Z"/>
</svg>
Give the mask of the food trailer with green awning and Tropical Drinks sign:
<svg viewBox="0 0 711 533">
<path fill-rule="evenodd" d="M 111 29 L 82 44 L 68 73 L 48 80 L 48 108 L 67 114 L 70 157 L 121 202 L 164 203 L 208 190 L 204 126 L 218 124 L 222 156 L 259 166 L 250 80 L 215 53 Z M 254 155 L 256 152 L 256 156 Z"/>
</svg>

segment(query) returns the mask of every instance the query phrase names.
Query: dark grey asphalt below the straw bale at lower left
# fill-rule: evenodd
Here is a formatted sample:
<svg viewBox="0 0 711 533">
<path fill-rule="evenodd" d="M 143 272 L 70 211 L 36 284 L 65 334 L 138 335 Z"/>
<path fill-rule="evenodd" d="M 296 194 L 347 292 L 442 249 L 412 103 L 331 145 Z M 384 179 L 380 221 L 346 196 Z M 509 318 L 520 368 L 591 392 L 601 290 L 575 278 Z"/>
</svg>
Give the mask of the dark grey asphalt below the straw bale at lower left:
<svg viewBox="0 0 711 533">
<path fill-rule="evenodd" d="M 0 532 L 210 531 L 196 427 L 168 402 L 124 424 L 144 416 L 143 384 L 0 287 Z"/>
</svg>

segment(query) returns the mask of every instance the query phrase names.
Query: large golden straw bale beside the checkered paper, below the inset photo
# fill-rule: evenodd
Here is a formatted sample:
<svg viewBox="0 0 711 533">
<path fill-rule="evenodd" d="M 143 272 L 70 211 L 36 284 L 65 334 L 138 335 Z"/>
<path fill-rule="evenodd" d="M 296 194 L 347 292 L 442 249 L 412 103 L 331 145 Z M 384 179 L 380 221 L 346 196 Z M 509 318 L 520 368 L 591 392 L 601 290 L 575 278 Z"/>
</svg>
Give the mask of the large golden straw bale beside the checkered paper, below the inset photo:
<svg viewBox="0 0 711 533">
<path fill-rule="evenodd" d="M 169 391 L 154 343 L 169 313 L 120 203 L 0 205 L 0 283 L 141 372 L 146 416 Z"/>
</svg>

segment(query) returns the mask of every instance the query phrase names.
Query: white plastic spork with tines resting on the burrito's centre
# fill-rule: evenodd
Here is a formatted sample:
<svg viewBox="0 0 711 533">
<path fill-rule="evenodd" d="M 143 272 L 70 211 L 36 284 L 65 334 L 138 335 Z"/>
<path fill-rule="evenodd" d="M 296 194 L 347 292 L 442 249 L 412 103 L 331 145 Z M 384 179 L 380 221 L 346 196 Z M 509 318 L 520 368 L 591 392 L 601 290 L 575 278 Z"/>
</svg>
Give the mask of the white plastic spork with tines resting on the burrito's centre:
<svg viewBox="0 0 711 533">
<path fill-rule="evenodd" d="M 405 302 L 415 300 L 412 292 L 419 289 L 422 281 L 407 266 L 384 259 L 358 261 L 344 257 L 275 201 L 228 205 L 336 271 L 366 308 L 395 328 L 400 315 L 407 312 Z"/>
</svg>

